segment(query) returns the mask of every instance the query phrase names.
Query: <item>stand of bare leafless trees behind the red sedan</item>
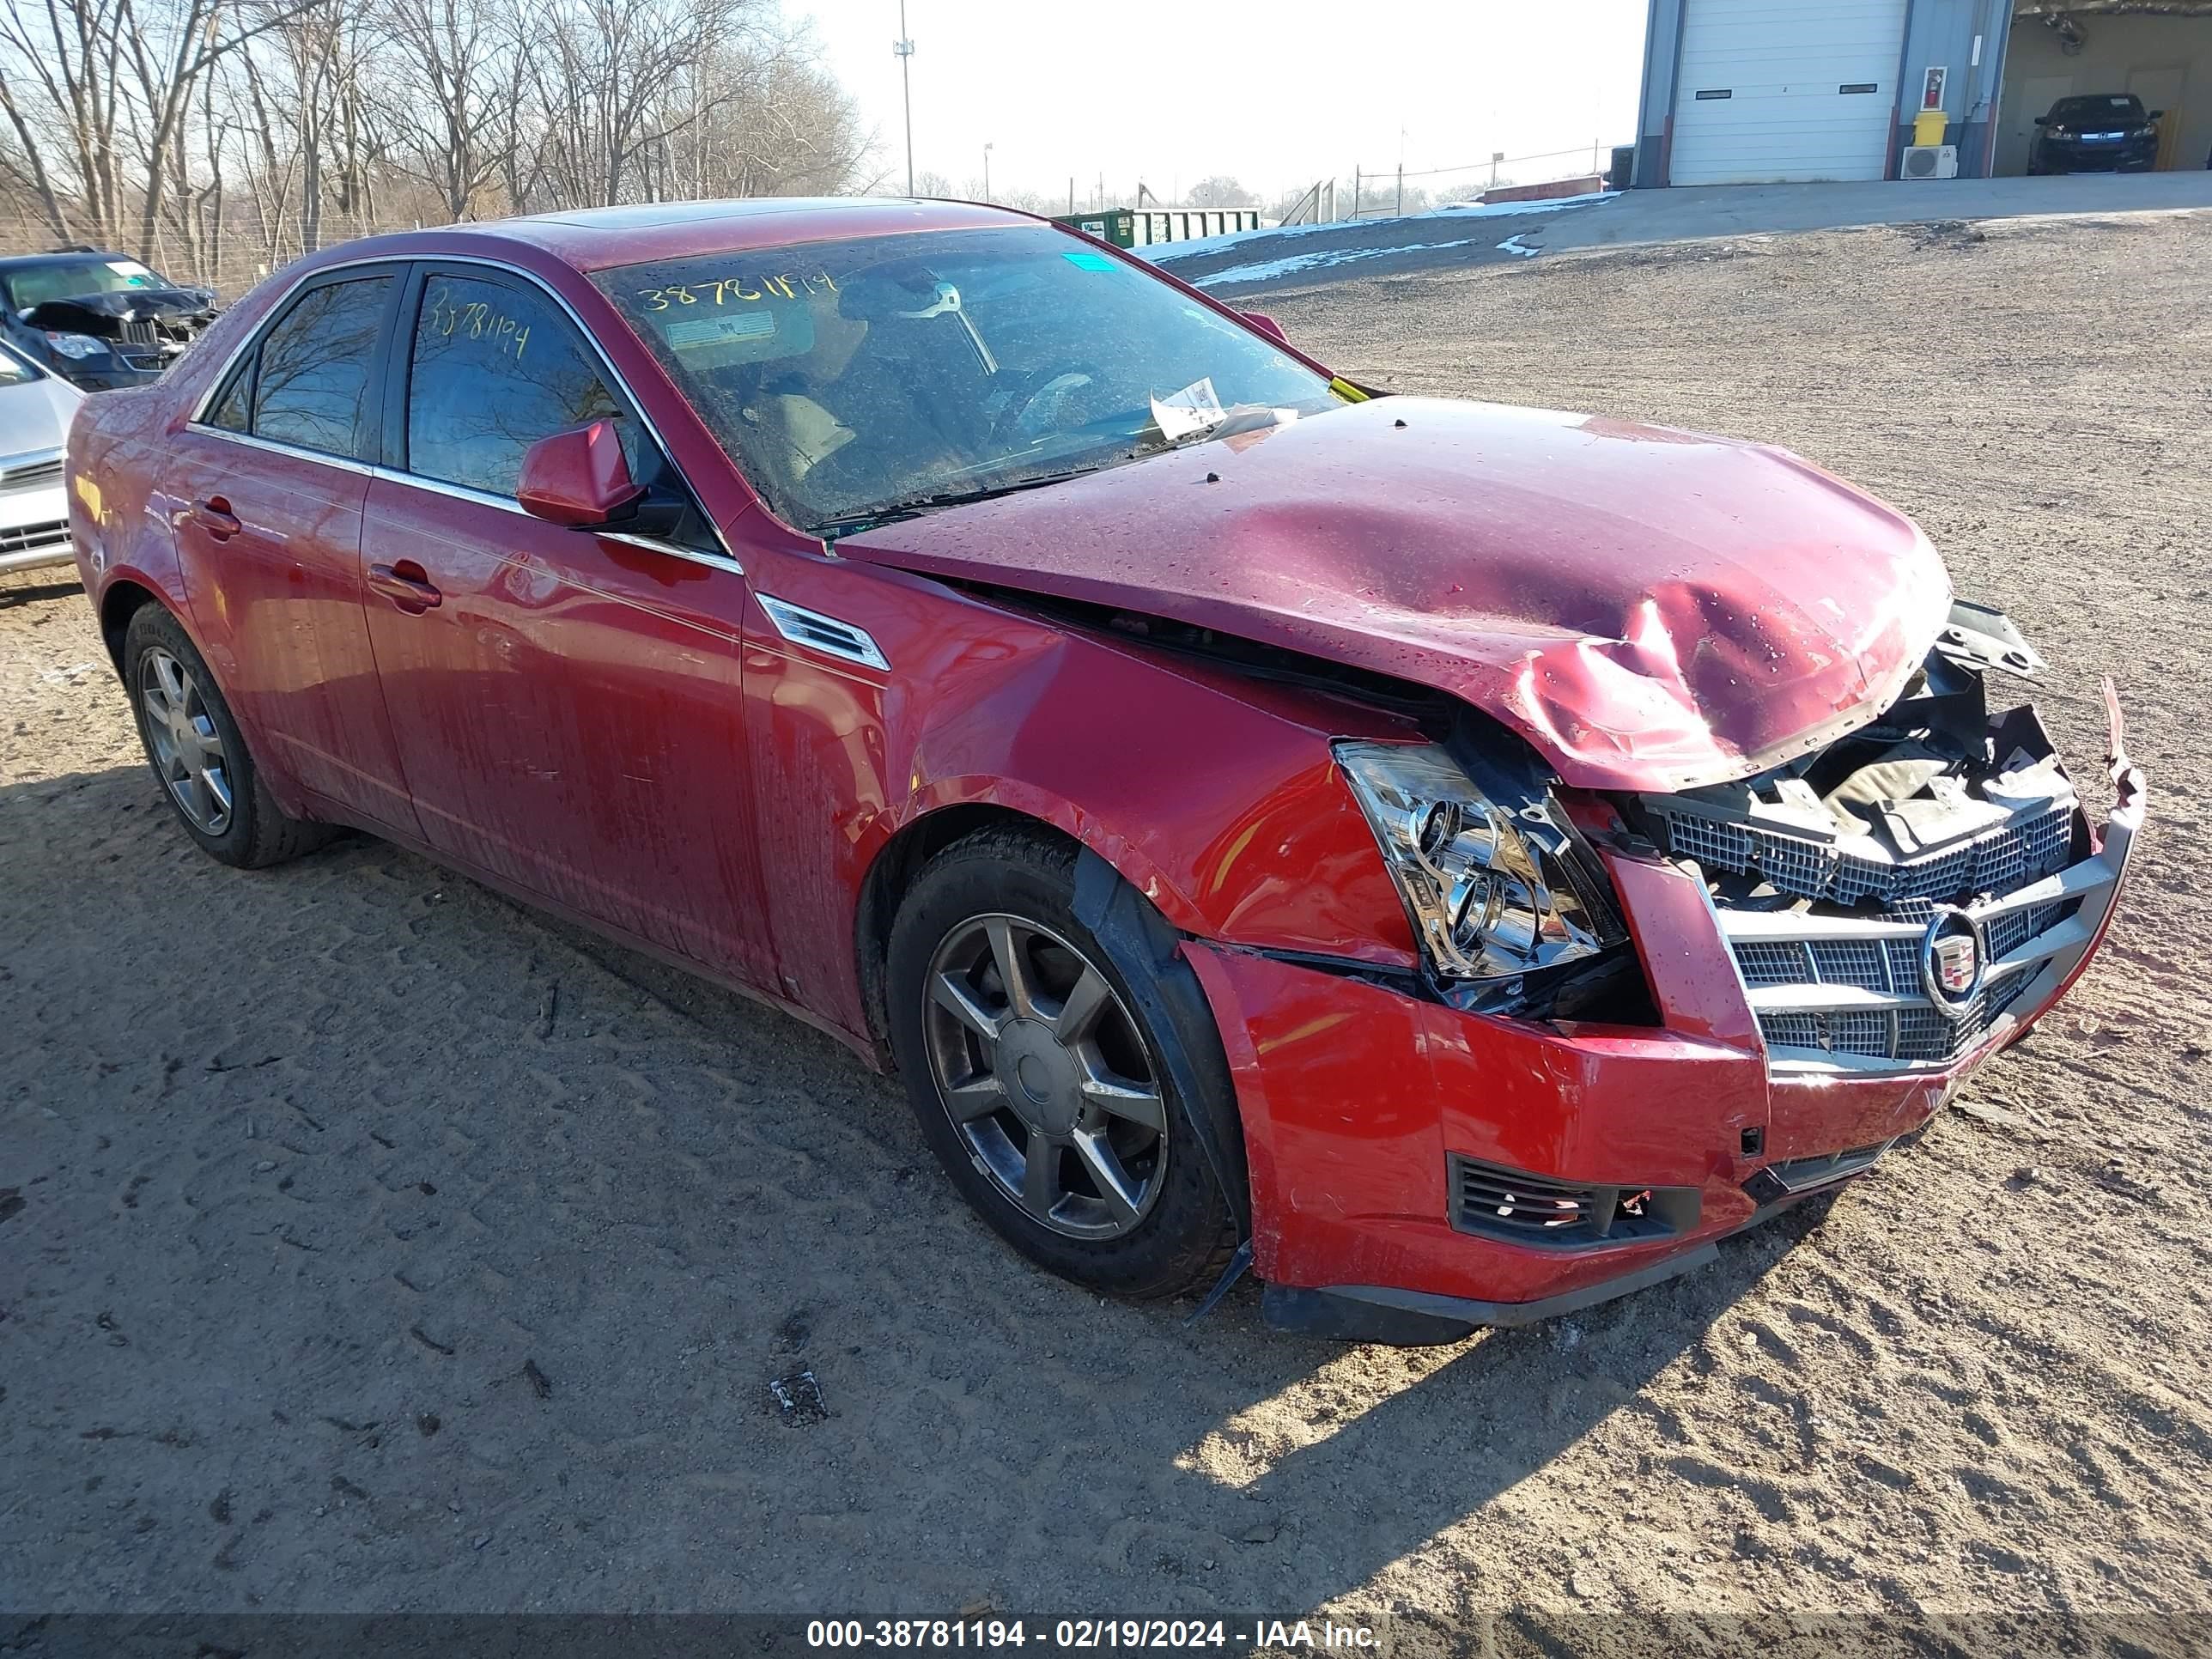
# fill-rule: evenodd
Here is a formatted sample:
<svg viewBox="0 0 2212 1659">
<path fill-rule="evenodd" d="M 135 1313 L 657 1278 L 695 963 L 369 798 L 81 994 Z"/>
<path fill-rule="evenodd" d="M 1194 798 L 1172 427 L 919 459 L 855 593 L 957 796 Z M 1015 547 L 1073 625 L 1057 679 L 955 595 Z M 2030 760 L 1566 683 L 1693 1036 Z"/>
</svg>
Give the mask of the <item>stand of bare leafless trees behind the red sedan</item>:
<svg viewBox="0 0 2212 1659">
<path fill-rule="evenodd" d="M 210 283 L 392 221 L 838 195 L 872 150 L 779 0 L 0 0 L 0 208 Z"/>
</svg>

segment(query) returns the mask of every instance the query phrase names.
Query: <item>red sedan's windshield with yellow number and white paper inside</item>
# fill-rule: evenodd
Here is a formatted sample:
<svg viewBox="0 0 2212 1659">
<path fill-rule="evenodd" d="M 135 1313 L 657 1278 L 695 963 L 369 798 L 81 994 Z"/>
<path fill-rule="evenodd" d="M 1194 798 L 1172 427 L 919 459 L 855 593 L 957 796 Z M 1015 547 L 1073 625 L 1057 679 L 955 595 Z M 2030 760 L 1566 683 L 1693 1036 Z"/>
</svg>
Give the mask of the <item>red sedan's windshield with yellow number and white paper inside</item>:
<svg viewBox="0 0 2212 1659">
<path fill-rule="evenodd" d="M 595 281 L 768 504 L 814 533 L 1340 407 L 1327 376 L 1048 226 Z"/>
</svg>

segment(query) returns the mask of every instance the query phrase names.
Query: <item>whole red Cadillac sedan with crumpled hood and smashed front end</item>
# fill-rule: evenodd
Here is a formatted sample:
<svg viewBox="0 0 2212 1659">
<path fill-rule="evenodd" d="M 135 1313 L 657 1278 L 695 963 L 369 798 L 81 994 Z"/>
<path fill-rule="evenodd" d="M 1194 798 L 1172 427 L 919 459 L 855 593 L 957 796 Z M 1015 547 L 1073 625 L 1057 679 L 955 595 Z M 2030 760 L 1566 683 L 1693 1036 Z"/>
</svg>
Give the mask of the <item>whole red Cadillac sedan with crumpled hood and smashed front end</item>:
<svg viewBox="0 0 2212 1659">
<path fill-rule="evenodd" d="M 1040 1265 L 1287 1329 L 1562 1314 L 1869 1168 L 2143 814 L 1820 469 L 1383 396 L 995 208 L 334 248 L 69 473 L 208 854 L 367 830 L 774 1002 Z"/>
</svg>

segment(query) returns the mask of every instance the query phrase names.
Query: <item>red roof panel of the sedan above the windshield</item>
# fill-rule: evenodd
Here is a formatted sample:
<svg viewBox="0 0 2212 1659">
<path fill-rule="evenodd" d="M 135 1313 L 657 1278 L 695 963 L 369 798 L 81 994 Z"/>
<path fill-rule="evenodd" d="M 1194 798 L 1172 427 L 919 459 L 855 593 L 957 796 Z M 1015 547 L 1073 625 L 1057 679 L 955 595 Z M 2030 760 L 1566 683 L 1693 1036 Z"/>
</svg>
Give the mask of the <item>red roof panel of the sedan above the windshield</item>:
<svg viewBox="0 0 2212 1659">
<path fill-rule="evenodd" d="M 845 237 L 891 237 L 909 230 L 982 230 L 1044 223 L 1026 212 L 978 201 L 916 197 L 752 197 L 743 201 L 646 201 L 626 208 L 538 212 L 515 219 L 409 230 L 356 243 L 365 252 L 436 257 L 489 252 L 522 243 L 575 270 L 608 270 L 657 259 L 790 248 Z"/>
</svg>

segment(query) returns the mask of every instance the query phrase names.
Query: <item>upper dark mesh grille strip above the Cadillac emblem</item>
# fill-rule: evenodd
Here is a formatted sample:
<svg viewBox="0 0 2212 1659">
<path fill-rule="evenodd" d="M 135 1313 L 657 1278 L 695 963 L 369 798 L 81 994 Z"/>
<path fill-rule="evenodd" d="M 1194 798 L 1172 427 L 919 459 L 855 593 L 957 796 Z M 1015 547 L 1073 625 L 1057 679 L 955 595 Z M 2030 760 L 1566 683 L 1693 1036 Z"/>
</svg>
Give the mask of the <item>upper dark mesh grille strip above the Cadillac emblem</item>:
<svg viewBox="0 0 2212 1659">
<path fill-rule="evenodd" d="M 1922 854 L 1878 863 L 1834 847 L 1785 836 L 1745 823 L 1703 818 L 1690 812 L 1666 812 L 1668 849 L 1677 858 L 1694 858 L 1705 874 L 1756 874 L 1770 887 L 1796 898 L 1829 898 L 1838 905 L 1876 900 L 1907 905 L 1911 900 L 1953 900 L 1969 894 L 2008 894 L 2066 865 L 2073 849 L 2073 803 L 2059 803 L 2037 814 L 2022 814 L 1971 841 Z"/>
</svg>

